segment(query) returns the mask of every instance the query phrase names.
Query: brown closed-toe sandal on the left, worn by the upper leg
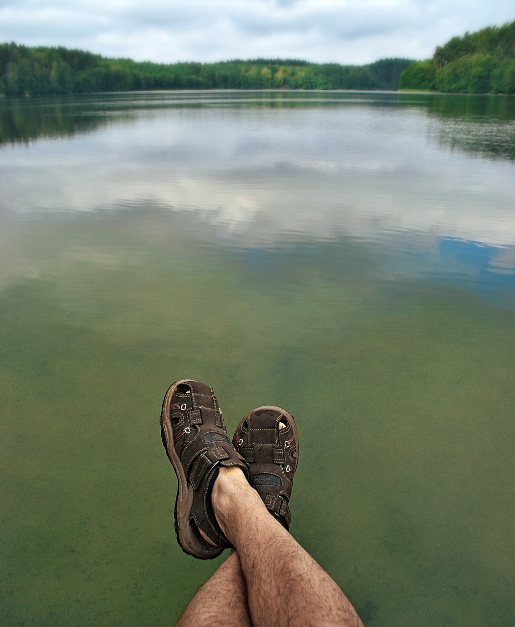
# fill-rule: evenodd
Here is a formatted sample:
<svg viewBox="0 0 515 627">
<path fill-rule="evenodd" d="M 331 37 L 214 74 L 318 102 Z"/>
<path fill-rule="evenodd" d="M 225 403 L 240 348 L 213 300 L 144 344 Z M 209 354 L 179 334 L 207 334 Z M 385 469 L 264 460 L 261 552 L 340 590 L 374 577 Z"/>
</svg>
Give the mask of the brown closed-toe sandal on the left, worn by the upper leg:
<svg viewBox="0 0 515 627">
<path fill-rule="evenodd" d="M 211 507 L 218 466 L 238 466 L 248 475 L 247 463 L 227 436 L 213 388 L 189 379 L 170 386 L 162 403 L 161 438 L 179 484 L 174 511 L 177 541 L 185 553 L 213 559 L 231 546 Z"/>
</svg>

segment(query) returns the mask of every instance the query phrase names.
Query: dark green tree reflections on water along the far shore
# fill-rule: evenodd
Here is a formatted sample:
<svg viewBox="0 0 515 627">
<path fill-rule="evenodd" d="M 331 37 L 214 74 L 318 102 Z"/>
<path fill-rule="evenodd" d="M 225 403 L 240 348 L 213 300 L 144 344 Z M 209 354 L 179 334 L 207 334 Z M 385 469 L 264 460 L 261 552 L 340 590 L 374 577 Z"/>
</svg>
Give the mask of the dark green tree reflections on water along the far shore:
<svg viewBox="0 0 515 627">
<path fill-rule="evenodd" d="M 440 140 L 463 150 L 515 159 L 513 97 L 403 92 L 217 91 L 130 92 L 69 97 L 11 98 L 0 103 L 0 145 L 38 137 L 93 132 L 105 116 L 134 119 L 142 110 L 166 107 L 295 108 L 359 104 L 420 108 L 447 123 Z M 1 106 L 3 105 L 3 106 Z M 450 137 L 449 137 L 450 136 Z"/>
</svg>

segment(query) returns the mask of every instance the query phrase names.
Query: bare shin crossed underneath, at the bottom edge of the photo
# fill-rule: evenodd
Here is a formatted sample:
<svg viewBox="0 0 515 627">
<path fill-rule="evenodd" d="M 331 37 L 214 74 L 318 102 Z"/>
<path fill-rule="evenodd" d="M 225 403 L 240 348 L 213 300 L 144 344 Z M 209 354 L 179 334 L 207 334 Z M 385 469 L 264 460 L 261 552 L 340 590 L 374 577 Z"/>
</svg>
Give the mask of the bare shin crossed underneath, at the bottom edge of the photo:
<svg viewBox="0 0 515 627">
<path fill-rule="evenodd" d="M 176 627 L 252 627 L 247 586 L 236 551 L 199 589 Z"/>
</svg>

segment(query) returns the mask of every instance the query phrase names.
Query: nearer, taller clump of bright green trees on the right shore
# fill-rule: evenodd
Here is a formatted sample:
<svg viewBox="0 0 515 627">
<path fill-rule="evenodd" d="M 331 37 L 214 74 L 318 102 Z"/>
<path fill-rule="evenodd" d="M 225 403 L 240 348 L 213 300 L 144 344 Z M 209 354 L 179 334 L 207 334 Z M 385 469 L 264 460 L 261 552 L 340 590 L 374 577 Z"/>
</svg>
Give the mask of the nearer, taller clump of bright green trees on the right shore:
<svg viewBox="0 0 515 627">
<path fill-rule="evenodd" d="M 411 63 L 400 89 L 447 93 L 515 93 L 515 21 L 453 37 L 433 58 Z"/>
</svg>

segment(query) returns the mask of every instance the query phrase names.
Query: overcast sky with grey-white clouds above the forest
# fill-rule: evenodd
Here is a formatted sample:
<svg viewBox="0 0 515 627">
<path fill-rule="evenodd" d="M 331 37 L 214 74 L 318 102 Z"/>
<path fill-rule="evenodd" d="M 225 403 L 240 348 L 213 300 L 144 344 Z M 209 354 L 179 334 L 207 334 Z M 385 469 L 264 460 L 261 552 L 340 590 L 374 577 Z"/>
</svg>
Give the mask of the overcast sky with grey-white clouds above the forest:
<svg viewBox="0 0 515 627">
<path fill-rule="evenodd" d="M 0 41 L 160 63 L 423 59 L 515 0 L 0 0 Z"/>
</svg>

